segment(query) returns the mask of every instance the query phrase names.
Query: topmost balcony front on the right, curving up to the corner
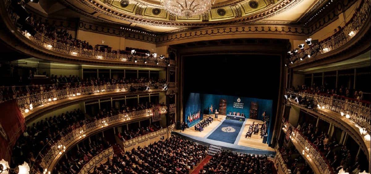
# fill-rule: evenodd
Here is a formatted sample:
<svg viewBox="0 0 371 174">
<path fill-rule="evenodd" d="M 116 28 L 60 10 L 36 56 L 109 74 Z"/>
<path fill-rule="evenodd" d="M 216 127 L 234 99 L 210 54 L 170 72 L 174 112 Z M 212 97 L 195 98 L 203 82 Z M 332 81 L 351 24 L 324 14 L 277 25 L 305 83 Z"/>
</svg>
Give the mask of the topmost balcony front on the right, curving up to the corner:
<svg viewBox="0 0 371 174">
<path fill-rule="evenodd" d="M 355 13 L 352 18 L 342 27 L 341 30 L 337 31 L 330 37 L 320 41 L 318 44 L 312 44 L 306 50 L 299 51 L 298 53 L 292 52 L 289 62 L 292 66 L 298 66 L 311 61 L 318 61 L 318 59 L 329 57 L 330 55 L 339 54 L 341 51 L 350 48 L 352 45 L 356 44 L 358 40 L 367 32 L 370 28 L 370 0 L 362 0 L 358 7 L 355 9 Z M 366 36 L 367 37 L 367 36 Z M 370 42 L 366 42 L 365 45 L 359 44 L 357 47 L 362 47 L 362 49 L 367 49 Z M 368 48 L 369 49 L 369 48 Z M 363 50 L 361 50 L 363 51 Z M 358 52 L 357 52 L 358 53 Z M 350 52 L 349 55 L 339 55 L 339 56 L 349 56 L 354 54 Z"/>
</svg>

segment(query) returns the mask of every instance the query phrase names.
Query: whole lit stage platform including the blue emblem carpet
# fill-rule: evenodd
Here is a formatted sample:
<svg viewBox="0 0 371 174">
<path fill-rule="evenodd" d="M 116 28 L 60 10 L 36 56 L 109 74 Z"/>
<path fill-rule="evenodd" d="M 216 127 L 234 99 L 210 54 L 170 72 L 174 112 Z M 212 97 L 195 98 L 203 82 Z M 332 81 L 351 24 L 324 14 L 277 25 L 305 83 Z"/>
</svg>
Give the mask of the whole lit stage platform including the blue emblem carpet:
<svg viewBox="0 0 371 174">
<path fill-rule="evenodd" d="M 213 117 L 214 115 L 204 115 L 203 118 Z M 251 139 L 244 135 L 249 130 L 251 123 L 262 124 L 261 120 L 246 119 L 244 122 L 239 120 L 226 119 L 225 115 L 218 115 L 218 119 L 206 126 L 202 132 L 194 130 L 194 127 L 185 129 L 184 132 L 174 130 L 173 133 L 185 139 L 196 141 L 200 144 L 214 144 L 221 146 L 222 149 L 254 154 L 275 154 L 275 150 L 262 143 L 260 130 L 258 134 L 252 134 Z"/>
</svg>

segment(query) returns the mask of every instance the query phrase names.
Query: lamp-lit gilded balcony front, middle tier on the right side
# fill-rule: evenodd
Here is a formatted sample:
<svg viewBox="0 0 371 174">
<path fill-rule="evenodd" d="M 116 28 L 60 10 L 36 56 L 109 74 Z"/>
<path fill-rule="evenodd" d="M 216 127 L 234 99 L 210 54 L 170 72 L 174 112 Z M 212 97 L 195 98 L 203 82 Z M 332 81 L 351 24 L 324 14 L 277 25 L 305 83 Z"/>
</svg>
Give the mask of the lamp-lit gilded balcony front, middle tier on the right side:
<svg viewBox="0 0 371 174">
<path fill-rule="evenodd" d="M 286 96 L 290 104 L 318 115 L 321 119 L 347 132 L 359 144 L 370 161 L 370 102 L 342 96 L 292 91 Z M 313 101 L 312 108 L 299 103 L 301 99 Z"/>
</svg>

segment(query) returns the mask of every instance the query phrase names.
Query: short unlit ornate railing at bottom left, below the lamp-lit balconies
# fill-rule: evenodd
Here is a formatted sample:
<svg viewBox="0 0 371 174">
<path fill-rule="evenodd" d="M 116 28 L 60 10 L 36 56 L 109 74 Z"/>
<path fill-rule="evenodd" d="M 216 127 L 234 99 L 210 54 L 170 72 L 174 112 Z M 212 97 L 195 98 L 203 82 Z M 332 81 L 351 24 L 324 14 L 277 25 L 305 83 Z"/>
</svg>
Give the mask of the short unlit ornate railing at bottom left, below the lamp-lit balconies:
<svg viewBox="0 0 371 174">
<path fill-rule="evenodd" d="M 103 150 L 98 155 L 92 157 L 80 170 L 78 174 L 88 174 L 91 170 L 94 169 L 94 167 L 98 164 L 101 164 L 101 162 L 108 158 L 109 156 L 113 156 L 114 149 L 113 147 L 108 147 L 108 149 Z"/>
</svg>

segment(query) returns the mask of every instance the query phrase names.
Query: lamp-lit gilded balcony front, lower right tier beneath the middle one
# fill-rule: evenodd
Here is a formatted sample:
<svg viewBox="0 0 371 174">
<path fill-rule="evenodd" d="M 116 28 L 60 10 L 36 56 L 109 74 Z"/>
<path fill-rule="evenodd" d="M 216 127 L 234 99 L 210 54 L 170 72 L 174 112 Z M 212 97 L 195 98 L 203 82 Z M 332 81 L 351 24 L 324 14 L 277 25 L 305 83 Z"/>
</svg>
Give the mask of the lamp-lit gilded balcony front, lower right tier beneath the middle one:
<svg viewBox="0 0 371 174">
<path fill-rule="evenodd" d="M 290 123 L 284 123 L 282 127 L 283 132 L 288 136 L 287 131 L 289 132 L 289 138 L 296 147 L 298 151 L 302 152 L 303 158 L 311 166 L 312 170 L 315 173 L 322 174 L 333 174 L 331 166 L 328 163 L 328 160 L 319 152 L 317 147 L 315 147 L 306 137 L 304 137 L 301 132 L 296 130 Z"/>
</svg>

